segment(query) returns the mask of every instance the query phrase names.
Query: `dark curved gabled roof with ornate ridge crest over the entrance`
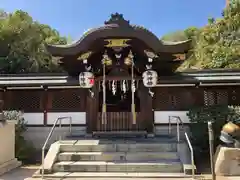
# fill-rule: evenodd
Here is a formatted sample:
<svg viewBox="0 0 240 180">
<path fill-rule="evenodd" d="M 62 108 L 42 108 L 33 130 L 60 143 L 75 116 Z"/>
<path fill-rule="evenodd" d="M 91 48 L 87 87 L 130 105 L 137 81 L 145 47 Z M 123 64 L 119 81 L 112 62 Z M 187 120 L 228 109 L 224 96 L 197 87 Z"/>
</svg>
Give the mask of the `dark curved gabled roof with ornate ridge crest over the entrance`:
<svg viewBox="0 0 240 180">
<path fill-rule="evenodd" d="M 121 14 L 113 14 L 103 26 L 92 28 L 80 38 L 80 40 L 68 45 L 46 45 L 47 50 L 53 56 L 77 55 L 88 51 L 93 41 L 104 38 L 130 38 L 143 41 L 155 53 L 169 52 L 180 53 L 188 51 L 191 41 L 164 42 L 151 31 L 142 26 L 130 25 Z"/>
</svg>

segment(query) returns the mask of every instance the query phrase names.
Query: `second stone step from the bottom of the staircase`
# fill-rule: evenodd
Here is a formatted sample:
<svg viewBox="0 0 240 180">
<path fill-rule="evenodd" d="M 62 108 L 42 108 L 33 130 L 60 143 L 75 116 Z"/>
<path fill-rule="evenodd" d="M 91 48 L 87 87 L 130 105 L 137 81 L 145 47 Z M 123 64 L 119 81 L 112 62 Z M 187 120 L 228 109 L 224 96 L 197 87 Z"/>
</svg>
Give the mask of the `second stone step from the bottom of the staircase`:
<svg viewBox="0 0 240 180">
<path fill-rule="evenodd" d="M 54 172 L 164 172 L 181 173 L 179 161 L 158 162 L 104 162 L 104 161 L 62 161 L 55 163 Z"/>
</svg>

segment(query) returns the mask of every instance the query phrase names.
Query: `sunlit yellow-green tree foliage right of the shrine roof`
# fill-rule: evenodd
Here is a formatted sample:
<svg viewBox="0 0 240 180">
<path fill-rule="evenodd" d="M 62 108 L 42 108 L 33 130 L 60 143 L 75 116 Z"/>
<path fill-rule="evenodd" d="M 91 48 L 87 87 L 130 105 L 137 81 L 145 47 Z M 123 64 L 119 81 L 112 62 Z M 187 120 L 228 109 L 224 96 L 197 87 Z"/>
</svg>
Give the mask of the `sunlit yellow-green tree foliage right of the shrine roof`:
<svg viewBox="0 0 240 180">
<path fill-rule="evenodd" d="M 240 0 L 232 0 L 222 18 L 209 19 L 195 32 L 192 55 L 179 70 L 240 68 Z"/>
</svg>

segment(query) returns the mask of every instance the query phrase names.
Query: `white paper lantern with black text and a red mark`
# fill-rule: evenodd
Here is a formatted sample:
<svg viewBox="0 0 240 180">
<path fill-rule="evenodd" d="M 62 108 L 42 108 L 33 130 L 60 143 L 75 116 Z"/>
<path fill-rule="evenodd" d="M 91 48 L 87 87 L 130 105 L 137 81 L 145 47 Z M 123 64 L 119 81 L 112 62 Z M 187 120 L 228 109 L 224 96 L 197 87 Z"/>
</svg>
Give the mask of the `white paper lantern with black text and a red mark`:
<svg viewBox="0 0 240 180">
<path fill-rule="evenodd" d="M 91 72 L 81 72 L 79 74 L 79 85 L 81 88 L 92 88 L 94 85 L 94 75 Z"/>
</svg>

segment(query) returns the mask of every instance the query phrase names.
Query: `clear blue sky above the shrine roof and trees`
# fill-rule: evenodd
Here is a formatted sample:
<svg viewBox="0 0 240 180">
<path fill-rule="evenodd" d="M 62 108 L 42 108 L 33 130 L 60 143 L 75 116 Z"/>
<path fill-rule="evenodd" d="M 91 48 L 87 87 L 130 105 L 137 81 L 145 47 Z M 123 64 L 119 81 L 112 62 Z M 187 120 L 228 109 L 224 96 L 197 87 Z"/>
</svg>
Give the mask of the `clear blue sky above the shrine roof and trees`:
<svg viewBox="0 0 240 180">
<path fill-rule="evenodd" d="M 209 17 L 220 17 L 224 6 L 225 0 L 0 0 L 0 9 L 27 11 L 34 20 L 74 40 L 115 12 L 161 37 L 189 26 L 203 26 Z"/>
</svg>

